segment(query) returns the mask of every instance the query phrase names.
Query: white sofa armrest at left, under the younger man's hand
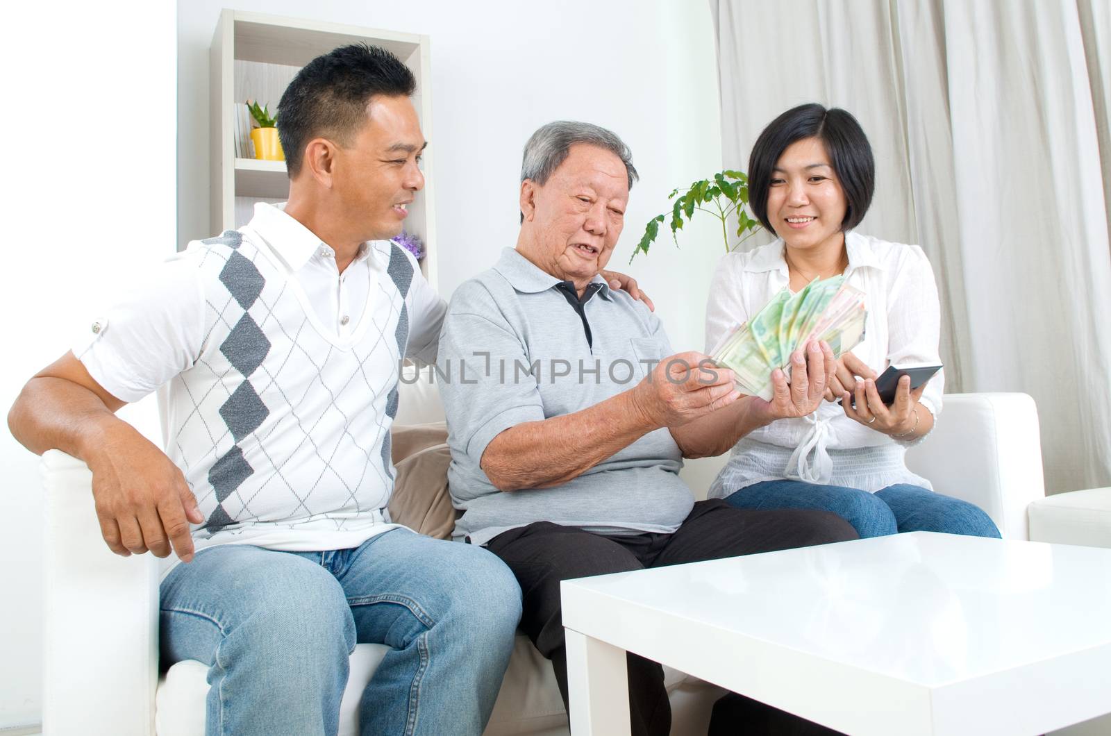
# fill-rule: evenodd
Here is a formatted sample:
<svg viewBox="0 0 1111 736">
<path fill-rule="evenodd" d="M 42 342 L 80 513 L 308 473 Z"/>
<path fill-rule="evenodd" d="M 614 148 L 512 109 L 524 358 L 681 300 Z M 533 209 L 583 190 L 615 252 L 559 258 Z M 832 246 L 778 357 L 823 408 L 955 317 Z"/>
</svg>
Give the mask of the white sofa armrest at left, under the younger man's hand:
<svg viewBox="0 0 1111 736">
<path fill-rule="evenodd" d="M 43 454 L 44 734 L 154 733 L 158 576 L 150 554 L 122 558 L 100 536 L 92 474 Z"/>
</svg>

